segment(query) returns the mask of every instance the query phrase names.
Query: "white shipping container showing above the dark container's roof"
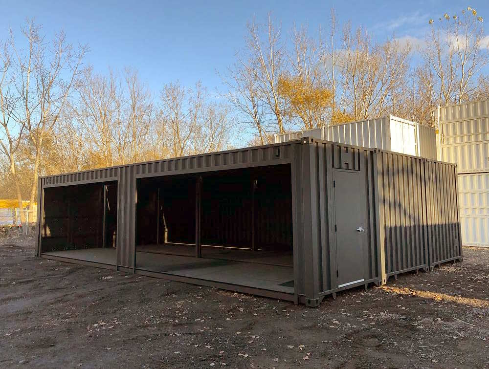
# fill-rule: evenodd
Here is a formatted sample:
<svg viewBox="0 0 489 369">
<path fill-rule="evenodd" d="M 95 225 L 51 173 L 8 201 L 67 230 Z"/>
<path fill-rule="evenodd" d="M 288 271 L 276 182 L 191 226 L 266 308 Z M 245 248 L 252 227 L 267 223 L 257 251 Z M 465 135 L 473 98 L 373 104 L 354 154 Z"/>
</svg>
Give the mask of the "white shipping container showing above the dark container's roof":
<svg viewBox="0 0 489 369">
<path fill-rule="evenodd" d="M 303 136 L 436 159 L 435 130 L 393 115 L 276 134 L 274 142 L 281 143 Z"/>
</svg>

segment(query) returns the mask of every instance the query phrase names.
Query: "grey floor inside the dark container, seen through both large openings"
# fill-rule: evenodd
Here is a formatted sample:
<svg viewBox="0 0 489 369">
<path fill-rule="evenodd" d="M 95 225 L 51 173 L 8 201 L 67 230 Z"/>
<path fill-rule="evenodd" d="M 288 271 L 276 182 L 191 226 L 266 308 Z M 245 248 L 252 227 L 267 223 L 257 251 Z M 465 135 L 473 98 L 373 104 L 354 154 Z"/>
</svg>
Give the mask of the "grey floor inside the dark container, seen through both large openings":
<svg viewBox="0 0 489 369">
<path fill-rule="evenodd" d="M 43 256 L 115 265 L 117 251 L 111 248 L 93 248 L 46 252 Z M 294 269 L 291 266 L 137 251 L 136 268 L 180 277 L 294 293 Z"/>
</svg>

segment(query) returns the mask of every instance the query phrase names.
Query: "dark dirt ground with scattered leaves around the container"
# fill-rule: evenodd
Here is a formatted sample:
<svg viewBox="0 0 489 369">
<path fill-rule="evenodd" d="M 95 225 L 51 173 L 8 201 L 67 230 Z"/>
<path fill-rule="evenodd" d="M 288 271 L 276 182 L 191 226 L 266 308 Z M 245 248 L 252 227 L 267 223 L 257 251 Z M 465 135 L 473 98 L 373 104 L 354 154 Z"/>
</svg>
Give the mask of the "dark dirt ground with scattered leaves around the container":
<svg viewBox="0 0 489 369">
<path fill-rule="evenodd" d="M 489 250 L 318 308 L 37 259 L 0 240 L 0 367 L 489 367 Z"/>
</svg>

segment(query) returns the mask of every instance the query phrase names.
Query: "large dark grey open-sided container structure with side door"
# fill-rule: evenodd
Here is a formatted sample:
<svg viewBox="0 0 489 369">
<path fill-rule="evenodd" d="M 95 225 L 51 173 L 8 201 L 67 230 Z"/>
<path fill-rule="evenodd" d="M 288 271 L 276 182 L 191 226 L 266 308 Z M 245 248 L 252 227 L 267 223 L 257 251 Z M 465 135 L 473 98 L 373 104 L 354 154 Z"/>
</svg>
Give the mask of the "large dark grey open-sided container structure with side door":
<svg viewBox="0 0 489 369">
<path fill-rule="evenodd" d="M 282 203 L 263 197 L 260 204 L 267 204 L 271 212 L 267 213 L 270 214 L 269 217 L 259 216 L 256 214 L 257 209 L 254 206 L 247 207 L 247 204 L 258 195 L 258 192 L 255 195 L 255 188 L 266 188 L 267 182 L 273 180 L 273 173 L 279 173 L 274 172 L 277 168 L 281 168 L 280 175 L 289 173 L 289 183 L 284 182 L 290 185 L 290 189 L 287 190 L 289 195 L 284 192 Z M 435 175 L 427 174 L 427 171 Z M 236 189 L 233 198 L 221 195 L 225 183 L 236 181 L 240 176 L 244 178 L 250 173 L 253 175 L 250 177 L 252 181 L 236 182 L 238 186 L 233 187 Z M 386 282 L 389 276 L 461 259 L 461 247 L 456 238 L 458 207 L 454 191 L 455 173 L 455 166 L 451 164 L 303 137 L 300 140 L 262 147 L 42 177 L 39 182 L 38 209 L 42 223 L 38 235 L 38 255 L 47 259 L 80 262 L 317 306 L 324 296 L 335 296 L 338 291 L 344 289 L 369 283 L 380 284 Z M 255 176 L 261 179 L 256 181 Z M 143 258 L 138 256 L 141 252 L 137 251 L 136 244 L 141 243 L 138 242 L 141 233 L 152 232 L 152 228 L 148 228 L 150 223 L 144 217 L 144 212 L 138 211 L 142 206 L 146 206 L 144 209 L 148 212 L 151 209 L 160 209 L 159 205 L 151 204 L 155 198 L 159 201 L 159 190 L 157 197 L 156 192 L 151 195 L 148 193 L 149 190 L 144 190 L 142 183 L 162 183 L 158 181 L 163 180 L 171 183 L 177 178 L 180 178 L 178 183 L 183 183 L 181 178 L 194 183 L 195 201 L 192 202 L 193 205 L 186 217 L 181 217 L 180 208 L 175 209 L 173 213 L 178 214 L 177 220 L 180 223 L 188 223 L 195 228 L 195 245 L 191 242 L 191 250 L 195 248 L 195 254 L 192 254 L 192 257 L 172 256 L 179 261 L 166 270 L 142 267 L 141 261 L 137 261 Z M 212 183 L 217 185 L 202 187 L 202 182 L 205 184 L 211 179 L 214 181 Z M 94 220 L 95 217 L 85 217 L 87 207 L 92 208 L 94 203 L 79 199 L 98 196 L 97 201 L 103 198 L 102 202 L 107 203 L 106 199 L 110 194 L 113 195 L 108 190 L 109 182 L 111 185 L 116 183 L 117 188 L 117 206 L 114 213 L 116 230 L 111 228 L 111 232 L 113 229 L 114 234 L 116 233 L 116 244 L 113 245 L 116 246 L 116 250 L 110 249 L 109 246 L 109 249 L 103 251 L 113 252 L 116 258 L 113 261 L 93 258 L 89 260 L 86 256 L 90 255 L 94 248 L 101 247 L 96 242 L 100 242 L 102 238 L 103 247 L 109 243 L 107 240 L 110 238 L 105 231 L 109 209 L 105 207 L 100 213 L 104 219 L 102 227 L 102 224 L 98 225 Z M 219 189 L 221 182 L 224 187 Z M 246 183 L 252 187 L 248 187 Z M 239 187 L 242 184 L 244 185 Z M 97 189 L 97 185 L 103 186 L 100 187 L 103 188 L 102 192 Z M 73 190 L 71 192 L 70 187 Z M 251 188 L 253 190 L 250 190 Z M 88 195 L 73 196 L 73 192 L 80 195 L 87 192 Z M 167 194 L 172 195 L 172 192 L 170 190 Z M 62 197 L 59 195 L 61 193 L 67 195 Z M 443 195 L 433 199 L 434 193 Z M 221 196 L 218 198 L 218 204 L 223 207 L 225 213 L 217 214 L 215 206 L 202 211 L 205 201 L 210 201 L 206 195 L 213 194 Z M 253 194 L 253 197 L 249 194 Z M 66 202 L 66 198 L 71 200 Z M 243 205 L 233 205 L 236 203 L 235 198 L 242 198 Z M 285 205 L 287 199 L 290 200 L 289 205 Z M 147 205 L 148 201 L 151 206 Z M 66 212 L 58 214 L 57 209 L 60 206 L 65 209 L 65 205 Z M 224 241 L 247 241 L 250 232 L 252 240 L 265 242 L 265 239 L 270 239 L 271 246 L 276 249 L 282 247 L 276 245 L 277 240 L 283 240 L 286 235 L 283 229 L 283 224 L 286 224 L 283 214 L 287 213 L 288 207 L 292 228 L 292 281 L 286 280 L 286 283 L 274 287 L 261 283 L 264 281 L 253 284 L 253 268 L 261 264 L 249 260 L 243 266 L 244 269 L 240 266 L 241 261 L 232 261 L 229 264 L 231 269 L 227 269 L 227 274 L 220 275 L 219 280 L 208 278 L 210 270 L 227 267 L 227 261 L 201 258 L 201 237 L 209 231 L 202 227 L 205 228 L 208 224 L 212 229 L 225 227 L 226 229 L 219 233 L 219 238 L 224 238 Z M 443 214 L 438 213 L 439 208 L 443 209 Z M 249 209 L 249 214 L 243 209 Z M 114 211 L 113 206 L 110 211 Z M 280 216 L 273 215 L 276 213 L 280 213 Z M 167 213 L 167 216 L 171 217 L 172 212 Z M 86 218 L 94 235 L 92 244 L 74 237 L 85 231 L 83 227 L 73 229 L 59 226 L 59 222 L 65 220 L 68 223 L 76 220 L 77 224 L 80 224 L 80 217 Z M 202 217 L 206 218 L 205 221 Z M 189 219 L 192 221 L 189 222 Z M 241 219 L 242 224 L 250 224 L 252 229 L 246 230 L 236 227 L 236 224 L 228 224 L 226 219 Z M 171 219 L 167 220 L 170 222 Z M 257 236 L 256 233 L 264 229 L 260 222 L 264 222 L 262 225 L 267 227 L 268 232 L 281 232 L 281 235 L 277 235 L 280 237 Z M 281 226 L 275 224 L 280 222 Z M 158 232 L 158 226 L 155 228 L 155 232 Z M 53 239 L 53 236 L 57 239 Z M 447 242 L 441 244 L 438 242 L 441 239 Z M 50 249 L 53 242 L 57 245 L 54 251 Z M 60 249 L 60 242 L 61 245 L 63 242 L 69 244 L 69 247 Z M 228 249 L 234 247 L 230 244 L 227 246 Z M 273 247 L 268 255 L 274 255 Z M 240 250 L 242 249 L 241 246 Z M 251 249 L 254 251 L 254 246 L 245 252 L 252 253 Z M 85 255 L 85 259 L 80 258 L 82 254 Z M 154 264 L 157 255 L 153 254 L 151 259 Z M 168 263 L 170 259 L 165 257 L 160 260 Z M 202 260 L 209 271 L 196 277 L 192 273 L 199 269 Z M 178 274 L 175 269 L 180 268 L 182 263 L 188 267 Z M 261 270 L 267 273 L 269 278 L 274 279 L 284 272 L 283 265 L 270 265 L 269 262 L 267 265 L 266 269 Z M 239 273 L 240 270 L 244 271 L 245 275 L 237 279 L 234 272 Z M 275 272 L 277 276 L 274 275 Z"/>
</svg>

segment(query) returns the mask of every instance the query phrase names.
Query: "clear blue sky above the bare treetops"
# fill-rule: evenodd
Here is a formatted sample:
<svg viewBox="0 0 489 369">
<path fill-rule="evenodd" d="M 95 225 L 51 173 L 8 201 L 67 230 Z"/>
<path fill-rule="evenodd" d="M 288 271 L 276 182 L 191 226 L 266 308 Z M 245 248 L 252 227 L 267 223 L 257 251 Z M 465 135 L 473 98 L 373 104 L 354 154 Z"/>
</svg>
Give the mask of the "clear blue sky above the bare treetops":
<svg viewBox="0 0 489 369">
<path fill-rule="evenodd" d="M 180 80 L 200 80 L 222 90 L 216 70 L 233 64 L 243 47 L 246 22 L 264 22 L 267 13 L 280 22 L 283 32 L 295 24 L 311 30 L 327 25 L 330 9 L 339 22 L 363 25 L 378 39 L 393 33 L 421 38 L 428 19 L 460 12 L 467 5 L 489 20 L 489 1 L 3 1 L 0 40 L 11 26 L 17 33 L 26 18 L 35 17 L 47 35 L 64 29 L 72 43 L 88 43 L 86 62 L 96 71 L 109 66 L 131 66 L 157 94 L 161 87 Z"/>
</svg>

